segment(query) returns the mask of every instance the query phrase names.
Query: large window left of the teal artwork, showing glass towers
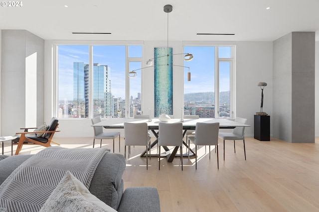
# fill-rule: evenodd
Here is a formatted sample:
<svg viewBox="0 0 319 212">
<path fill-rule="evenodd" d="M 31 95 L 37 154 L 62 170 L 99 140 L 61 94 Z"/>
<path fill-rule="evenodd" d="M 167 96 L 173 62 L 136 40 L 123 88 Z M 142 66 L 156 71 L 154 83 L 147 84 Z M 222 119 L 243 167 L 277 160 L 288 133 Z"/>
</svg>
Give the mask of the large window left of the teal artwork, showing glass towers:
<svg viewBox="0 0 319 212">
<path fill-rule="evenodd" d="M 126 101 L 126 53 L 142 57 L 142 46 L 58 45 L 58 117 L 120 118 L 126 108 L 141 111 L 141 79 L 131 84 Z M 90 60 L 91 58 L 91 60 Z M 139 58 L 141 61 L 142 59 Z M 130 70 L 141 68 L 135 61 Z M 130 96 L 130 95 L 129 95 Z M 134 110 L 132 110 L 134 108 Z"/>
</svg>

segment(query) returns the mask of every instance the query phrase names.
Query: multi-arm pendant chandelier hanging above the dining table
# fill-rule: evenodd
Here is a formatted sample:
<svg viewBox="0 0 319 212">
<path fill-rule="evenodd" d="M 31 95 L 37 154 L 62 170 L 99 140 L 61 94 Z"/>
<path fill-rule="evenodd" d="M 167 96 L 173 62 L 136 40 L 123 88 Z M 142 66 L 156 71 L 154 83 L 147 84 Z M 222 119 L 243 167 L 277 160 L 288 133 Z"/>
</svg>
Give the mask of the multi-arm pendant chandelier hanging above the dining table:
<svg viewBox="0 0 319 212">
<path fill-rule="evenodd" d="M 146 62 L 146 66 L 147 66 L 147 67 L 130 71 L 129 74 L 128 74 L 130 78 L 135 78 L 135 77 L 137 76 L 137 72 L 136 72 L 136 71 L 139 71 L 139 70 L 142 70 L 142 69 L 147 69 L 147 68 L 150 68 L 150 67 L 154 67 L 154 60 L 155 60 L 155 59 L 162 58 L 162 57 L 167 57 L 167 64 L 157 65 L 157 66 L 178 66 L 178 67 L 187 68 L 187 69 L 188 69 L 188 72 L 187 72 L 187 81 L 190 81 L 190 71 L 189 71 L 189 67 L 179 66 L 179 65 L 173 65 L 173 64 L 168 64 L 168 57 L 170 56 L 170 55 L 169 55 L 169 52 L 168 52 L 168 13 L 171 12 L 172 10 L 173 10 L 172 5 L 166 4 L 166 5 L 164 6 L 164 12 L 167 13 L 167 54 L 166 54 L 166 55 L 159 56 L 159 57 L 156 57 L 156 58 L 152 58 L 152 59 L 148 60 L 148 61 Z M 191 60 L 193 59 L 193 55 L 192 55 L 192 54 L 189 54 L 189 53 L 180 53 L 180 54 L 171 54 L 171 55 L 184 55 L 184 61 L 191 61 Z"/>
</svg>

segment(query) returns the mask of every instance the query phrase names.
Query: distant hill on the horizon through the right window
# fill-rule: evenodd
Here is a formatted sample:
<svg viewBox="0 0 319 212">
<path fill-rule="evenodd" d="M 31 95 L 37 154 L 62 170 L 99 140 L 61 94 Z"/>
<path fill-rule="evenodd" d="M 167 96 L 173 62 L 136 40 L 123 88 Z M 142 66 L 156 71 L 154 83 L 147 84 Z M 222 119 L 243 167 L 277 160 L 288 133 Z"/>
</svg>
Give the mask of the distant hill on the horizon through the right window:
<svg viewBox="0 0 319 212">
<path fill-rule="evenodd" d="M 220 104 L 230 104 L 230 91 L 220 92 Z M 214 103 L 215 101 L 215 92 L 199 92 L 199 93 L 185 93 L 184 102 L 207 102 Z"/>
</svg>

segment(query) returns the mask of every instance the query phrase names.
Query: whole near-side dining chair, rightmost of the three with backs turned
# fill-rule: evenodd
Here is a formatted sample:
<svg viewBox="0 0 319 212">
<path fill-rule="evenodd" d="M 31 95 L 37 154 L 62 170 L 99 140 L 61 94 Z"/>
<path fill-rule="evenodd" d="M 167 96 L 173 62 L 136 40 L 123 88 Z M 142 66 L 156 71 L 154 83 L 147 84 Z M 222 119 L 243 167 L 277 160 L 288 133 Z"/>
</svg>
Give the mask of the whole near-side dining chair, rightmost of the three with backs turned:
<svg viewBox="0 0 319 212">
<path fill-rule="evenodd" d="M 210 146 L 215 145 L 217 149 L 217 169 L 219 169 L 218 162 L 218 131 L 219 123 L 196 123 L 195 136 L 189 136 L 188 139 L 195 144 L 195 169 L 197 169 L 197 146 L 209 145 L 209 159 Z"/>
</svg>

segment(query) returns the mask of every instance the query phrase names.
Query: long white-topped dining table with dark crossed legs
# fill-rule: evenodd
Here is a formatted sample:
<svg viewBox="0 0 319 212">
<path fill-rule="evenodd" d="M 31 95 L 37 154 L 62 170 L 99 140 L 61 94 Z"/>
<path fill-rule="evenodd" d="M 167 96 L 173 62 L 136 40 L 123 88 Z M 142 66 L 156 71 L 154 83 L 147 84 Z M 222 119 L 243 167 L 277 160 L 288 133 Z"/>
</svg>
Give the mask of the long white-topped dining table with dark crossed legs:
<svg viewBox="0 0 319 212">
<path fill-rule="evenodd" d="M 159 130 L 159 123 L 161 122 L 160 119 L 154 118 L 154 119 L 135 119 L 135 118 L 107 118 L 102 120 L 101 122 L 91 125 L 92 127 L 104 127 L 105 129 L 124 129 L 124 123 L 147 123 L 148 128 L 154 136 L 156 137 L 156 140 L 152 142 L 151 148 L 158 143 L 158 130 Z M 195 130 L 196 129 L 196 123 L 219 123 L 219 129 L 234 129 L 236 127 L 250 127 L 250 125 L 242 124 L 239 122 L 235 122 L 231 119 L 215 119 L 215 118 L 199 118 L 199 119 L 169 119 L 165 123 L 176 123 L 181 122 L 183 126 L 183 137 L 186 134 L 187 130 Z M 183 141 L 183 144 L 188 148 L 188 145 L 186 142 Z M 178 150 L 178 146 L 176 146 L 172 152 L 170 152 L 169 148 L 167 146 L 163 146 L 166 157 L 168 162 L 172 162 L 173 158 L 176 155 L 176 152 Z M 190 149 L 193 155 L 195 153 Z M 144 150 L 141 153 L 141 157 L 146 154 L 146 150 Z M 188 156 L 188 154 L 185 154 L 183 156 Z"/>
</svg>

